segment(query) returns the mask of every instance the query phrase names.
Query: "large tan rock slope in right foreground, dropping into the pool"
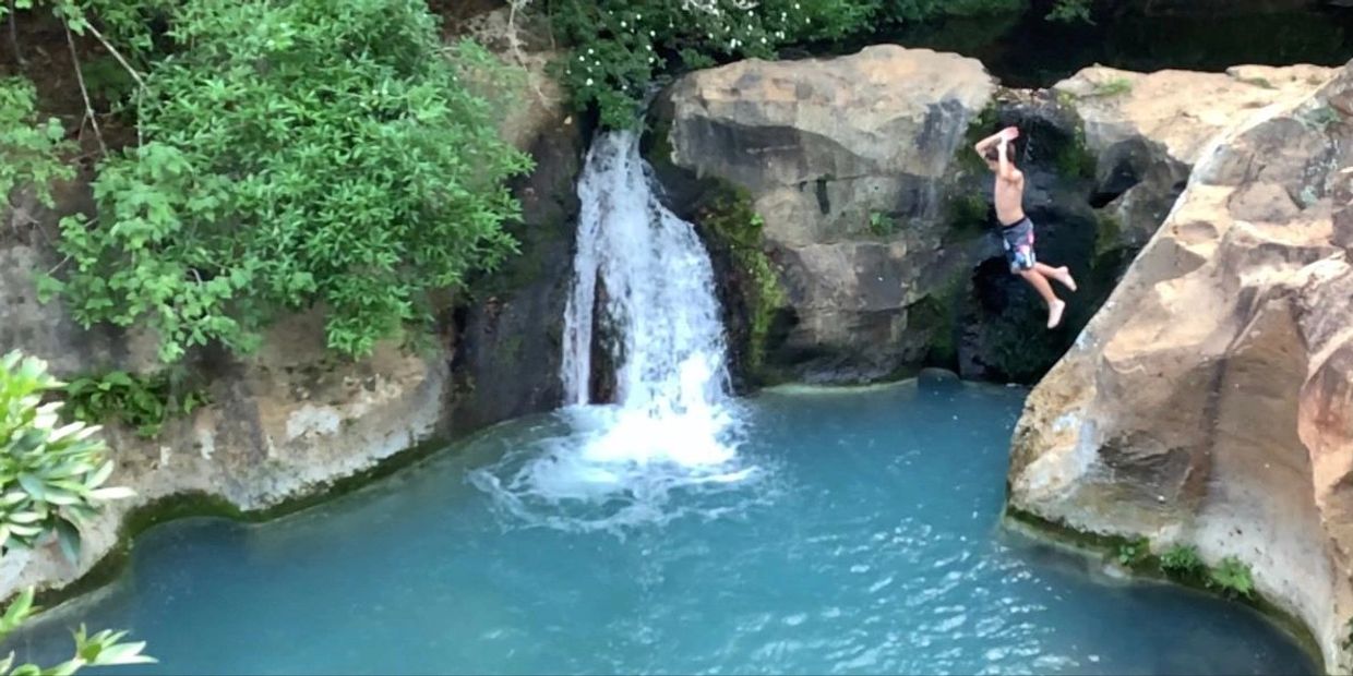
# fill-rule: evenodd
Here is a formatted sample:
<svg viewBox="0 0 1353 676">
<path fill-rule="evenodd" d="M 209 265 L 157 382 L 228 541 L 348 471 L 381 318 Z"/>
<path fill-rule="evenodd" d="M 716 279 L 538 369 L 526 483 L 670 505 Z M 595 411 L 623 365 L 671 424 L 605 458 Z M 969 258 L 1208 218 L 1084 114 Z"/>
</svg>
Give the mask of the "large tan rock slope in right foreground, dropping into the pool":
<svg viewBox="0 0 1353 676">
<path fill-rule="evenodd" d="M 1197 153 L 1189 185 L 1030 396 L 1009 475 L 1016 508 L 1250 564 L 1331 672 L 1353 667 L 1350 115 L 1353 65 L 1216 143 L 1161 134 Z"/>
</svg>

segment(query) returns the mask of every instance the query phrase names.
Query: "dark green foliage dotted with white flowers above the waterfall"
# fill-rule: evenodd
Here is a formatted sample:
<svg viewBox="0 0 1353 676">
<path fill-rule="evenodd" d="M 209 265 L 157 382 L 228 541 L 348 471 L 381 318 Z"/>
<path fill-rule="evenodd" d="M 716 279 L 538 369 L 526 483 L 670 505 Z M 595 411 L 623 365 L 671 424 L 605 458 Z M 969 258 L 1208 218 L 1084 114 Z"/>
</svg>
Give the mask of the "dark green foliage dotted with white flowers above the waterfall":
<svg viewBox="0 0 1353 676">
<path fill-rule="evenodd" d="M 553 32 L 572 45 L 557 74 L 574 104 L 597 105 L 603 126 L 624 128 L 637 123 L 639 103 L 648 84 L 666 70 L 774 58 L 792 45 L 1019 4 L 1019 0 L 555 0 L 549 4 L 549 20 Z"/>
</svg>

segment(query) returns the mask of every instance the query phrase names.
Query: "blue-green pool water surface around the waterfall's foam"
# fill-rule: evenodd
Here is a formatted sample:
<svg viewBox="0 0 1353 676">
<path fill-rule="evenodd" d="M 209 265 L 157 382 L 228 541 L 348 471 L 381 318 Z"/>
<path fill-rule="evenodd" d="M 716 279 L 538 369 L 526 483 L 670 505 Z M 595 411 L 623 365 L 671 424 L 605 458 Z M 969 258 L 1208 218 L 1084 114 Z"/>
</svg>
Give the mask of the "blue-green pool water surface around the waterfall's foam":
<svg viewBox="0 0 1353 676">
<path fill-rule="evenodd" d="M 161 660 L 108 673 L 1315 669 L 1245 607 L 1003 530 L 1023 396 L 766 392 L 741 404 L 752 479 L 599 530 L 533 526 L 471 481 L 568 426 L 524 419 L 276 522 L 157 527 L 116 584 L 11 644 L 55 661 L 84 621 Z"/>
</svg>

